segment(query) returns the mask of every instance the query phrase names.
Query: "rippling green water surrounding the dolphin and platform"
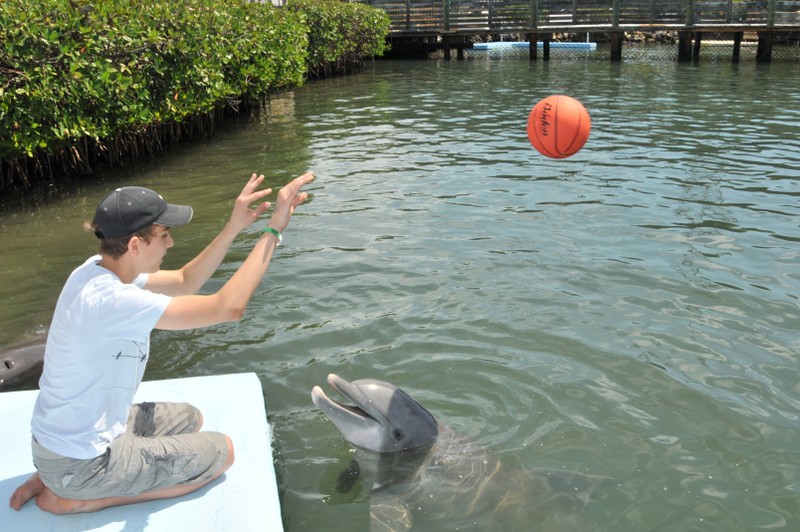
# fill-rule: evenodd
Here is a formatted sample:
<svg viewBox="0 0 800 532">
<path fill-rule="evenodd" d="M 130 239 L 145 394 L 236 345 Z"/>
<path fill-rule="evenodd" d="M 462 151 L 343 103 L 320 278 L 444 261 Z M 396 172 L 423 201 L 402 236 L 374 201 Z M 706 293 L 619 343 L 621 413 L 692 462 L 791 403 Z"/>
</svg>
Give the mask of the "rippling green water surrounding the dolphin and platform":
<svg viewBox="0 0 800 532">
<path fill-rule="evenodd" d="M 287 530 L 368 526 L 364 489 L 333 493 L 352 451 L 310 401 L 330 372 L 401 385 L 515 470 L 612 477 L 576 511 L 582 529 L 797 529 L 796 80 L 781 64 L 475 60 L 311 83 L 0 218 L 0 344 L 46 331 L 109 188 L 194 206 L 170 267 L 216 234 L 250 172 L 278 185 L 312 169 L 242 322 L 154 333 L 147 372 L 259 375 Z M 557 92 L 593 126 L 559 161 L 525 136 Z M 556 527 L 498 514 L 491 529 Z"/>
</svg>

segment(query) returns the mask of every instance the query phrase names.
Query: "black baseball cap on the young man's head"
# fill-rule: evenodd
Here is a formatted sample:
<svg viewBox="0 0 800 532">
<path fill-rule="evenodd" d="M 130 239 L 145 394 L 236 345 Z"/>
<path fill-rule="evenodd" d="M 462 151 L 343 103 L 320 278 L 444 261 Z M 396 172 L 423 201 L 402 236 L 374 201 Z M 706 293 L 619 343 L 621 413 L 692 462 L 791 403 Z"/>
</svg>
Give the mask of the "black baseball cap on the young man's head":
<svg viewBox="0 0 800 532">
<path fill-rule="evenodd" d="M 192 208 L 188 205 L 167 203 L 149 188 L 122 187 L 100 201 L 93 223 L 99 238 L 121 238 L 152 224 L 180 227 L 191 219 Z"/>
</svg>

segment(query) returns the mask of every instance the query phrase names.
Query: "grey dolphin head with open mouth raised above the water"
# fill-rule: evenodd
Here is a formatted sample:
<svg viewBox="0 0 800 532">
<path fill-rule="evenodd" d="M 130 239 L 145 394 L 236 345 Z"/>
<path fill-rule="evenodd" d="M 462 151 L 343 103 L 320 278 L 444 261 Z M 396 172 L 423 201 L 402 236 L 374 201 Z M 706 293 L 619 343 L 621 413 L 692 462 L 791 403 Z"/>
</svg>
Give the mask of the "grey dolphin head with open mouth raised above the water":
<svg viewBox="0 0 800 532">
<path fill-rule="evenodd" d="M 353 445 L 396 453 L 430 447 L 436 441 L 436 419 L 397 386 L 375 379 L 348 382 L 333 373 L 328 384 L 353 404 L 330 399 L 319 386 L 311 390 L 311 400 Z"/>
</svg>

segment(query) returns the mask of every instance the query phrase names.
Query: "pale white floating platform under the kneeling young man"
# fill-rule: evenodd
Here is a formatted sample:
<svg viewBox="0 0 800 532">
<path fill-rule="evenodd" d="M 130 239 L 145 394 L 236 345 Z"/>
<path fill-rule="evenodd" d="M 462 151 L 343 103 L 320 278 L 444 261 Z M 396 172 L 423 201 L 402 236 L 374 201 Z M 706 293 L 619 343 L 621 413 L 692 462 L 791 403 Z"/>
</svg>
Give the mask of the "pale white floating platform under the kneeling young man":
<svg viewBox="0 0 800 532">
<path fill-rule="evenodd" d="M 0 530 L 282 531 L 261 383 L 254 373 L 143 382 L 136 401 L 185 401 L 203 412 L 203 429 L 233 440 L 236 461 L 222 477 L 185 497 L 109 508 L 94 514 L 56 516 L 34 501 L 16 512 L 14 490 L 33 472 L 30 418 L 37 391 L 0 393 Z"/>
</svg>

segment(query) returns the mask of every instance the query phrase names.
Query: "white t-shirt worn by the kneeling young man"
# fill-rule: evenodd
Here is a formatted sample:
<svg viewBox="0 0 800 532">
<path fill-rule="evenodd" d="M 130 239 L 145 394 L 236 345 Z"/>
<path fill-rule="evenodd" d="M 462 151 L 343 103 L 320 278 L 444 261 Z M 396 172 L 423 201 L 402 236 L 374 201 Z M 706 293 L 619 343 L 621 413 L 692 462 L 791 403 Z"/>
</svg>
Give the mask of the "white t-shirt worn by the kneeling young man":
<svg viewBox="0 0 800 532">
<path fill-rule="evenodd" d="M 150 332 L 171 298 L 126 284 L 91 257 L 58 298 L 48 332 L 33 436 L 46 449 L 94 458 L 125 432 L 144 375 Z"/>
</svg>

